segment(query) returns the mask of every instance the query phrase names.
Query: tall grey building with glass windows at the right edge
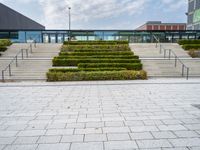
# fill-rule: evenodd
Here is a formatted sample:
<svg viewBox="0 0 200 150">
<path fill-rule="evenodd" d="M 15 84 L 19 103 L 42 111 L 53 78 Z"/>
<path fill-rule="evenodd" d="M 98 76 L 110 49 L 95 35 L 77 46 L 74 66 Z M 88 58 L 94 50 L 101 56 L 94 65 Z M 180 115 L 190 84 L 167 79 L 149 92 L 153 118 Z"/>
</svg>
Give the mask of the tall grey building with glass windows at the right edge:
<svg viewBox="0 0 200 150">
<path fill-rule="evenodd" d="M 200 0 L 188 0 L 187 29 L 200 30 Z"/>
</svg>

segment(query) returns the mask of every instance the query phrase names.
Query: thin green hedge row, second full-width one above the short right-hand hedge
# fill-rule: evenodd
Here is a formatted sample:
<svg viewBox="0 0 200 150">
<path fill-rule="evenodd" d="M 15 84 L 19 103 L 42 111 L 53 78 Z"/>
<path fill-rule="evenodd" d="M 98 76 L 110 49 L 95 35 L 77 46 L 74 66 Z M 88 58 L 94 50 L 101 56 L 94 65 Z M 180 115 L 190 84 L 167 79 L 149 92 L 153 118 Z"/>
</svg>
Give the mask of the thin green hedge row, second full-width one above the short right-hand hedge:
<svg viewBox="0 0 200 150">
<path fill-rule="evenodd" d="M 55 59 L 139 59 L 136 55 L 58 56 Z"/>
</svg>

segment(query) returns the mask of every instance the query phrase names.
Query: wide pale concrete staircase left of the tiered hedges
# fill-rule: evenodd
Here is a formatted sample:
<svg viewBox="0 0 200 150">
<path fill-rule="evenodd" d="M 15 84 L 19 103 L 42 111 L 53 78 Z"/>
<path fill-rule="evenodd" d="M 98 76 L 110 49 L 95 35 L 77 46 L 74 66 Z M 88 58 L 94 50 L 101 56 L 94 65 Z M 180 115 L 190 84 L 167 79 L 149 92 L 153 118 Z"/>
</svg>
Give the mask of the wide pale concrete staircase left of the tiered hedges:
<svg viewBox="0 0 200 150">
<path fill-rule="evenodd" d="M 0 70 L 10 63 L 21 48 L 27 47 L 29 47 L 29 44 L 13 44 L 0 57 Z M 33 52 L 30 53 L 29 50 L 28 58 L 21 60 L 19 55 L 18 67 L 13 63 L 11 65 L 12 76 L 10 77 L 8 71 L 6 71 L 5 79 L 7 81 L 46 80 L 46 72 L 49 68 L 52 68 L 52 58 L 58 55 L 60 47 L 61 44 L 37 44 L 36 48 L 33 46 Z M 1 78 L 2 74 L 0 74 L 0 80 Z"/>
</svg>

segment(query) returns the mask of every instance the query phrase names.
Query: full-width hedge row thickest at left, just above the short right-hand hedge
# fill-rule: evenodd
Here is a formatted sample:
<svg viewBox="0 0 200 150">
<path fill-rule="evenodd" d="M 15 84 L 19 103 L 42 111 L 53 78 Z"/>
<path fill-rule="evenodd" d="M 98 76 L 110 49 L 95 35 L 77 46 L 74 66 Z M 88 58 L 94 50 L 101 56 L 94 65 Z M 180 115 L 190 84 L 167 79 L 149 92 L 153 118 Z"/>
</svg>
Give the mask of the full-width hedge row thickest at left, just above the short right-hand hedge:
<svg viewBox="0 0 200 150">
<path fill-rule="evenodd" d="M 53 66 L 77 66 L 80 63 L 140 63 L 139 59 L 53 59 Z"/>
</svg>

